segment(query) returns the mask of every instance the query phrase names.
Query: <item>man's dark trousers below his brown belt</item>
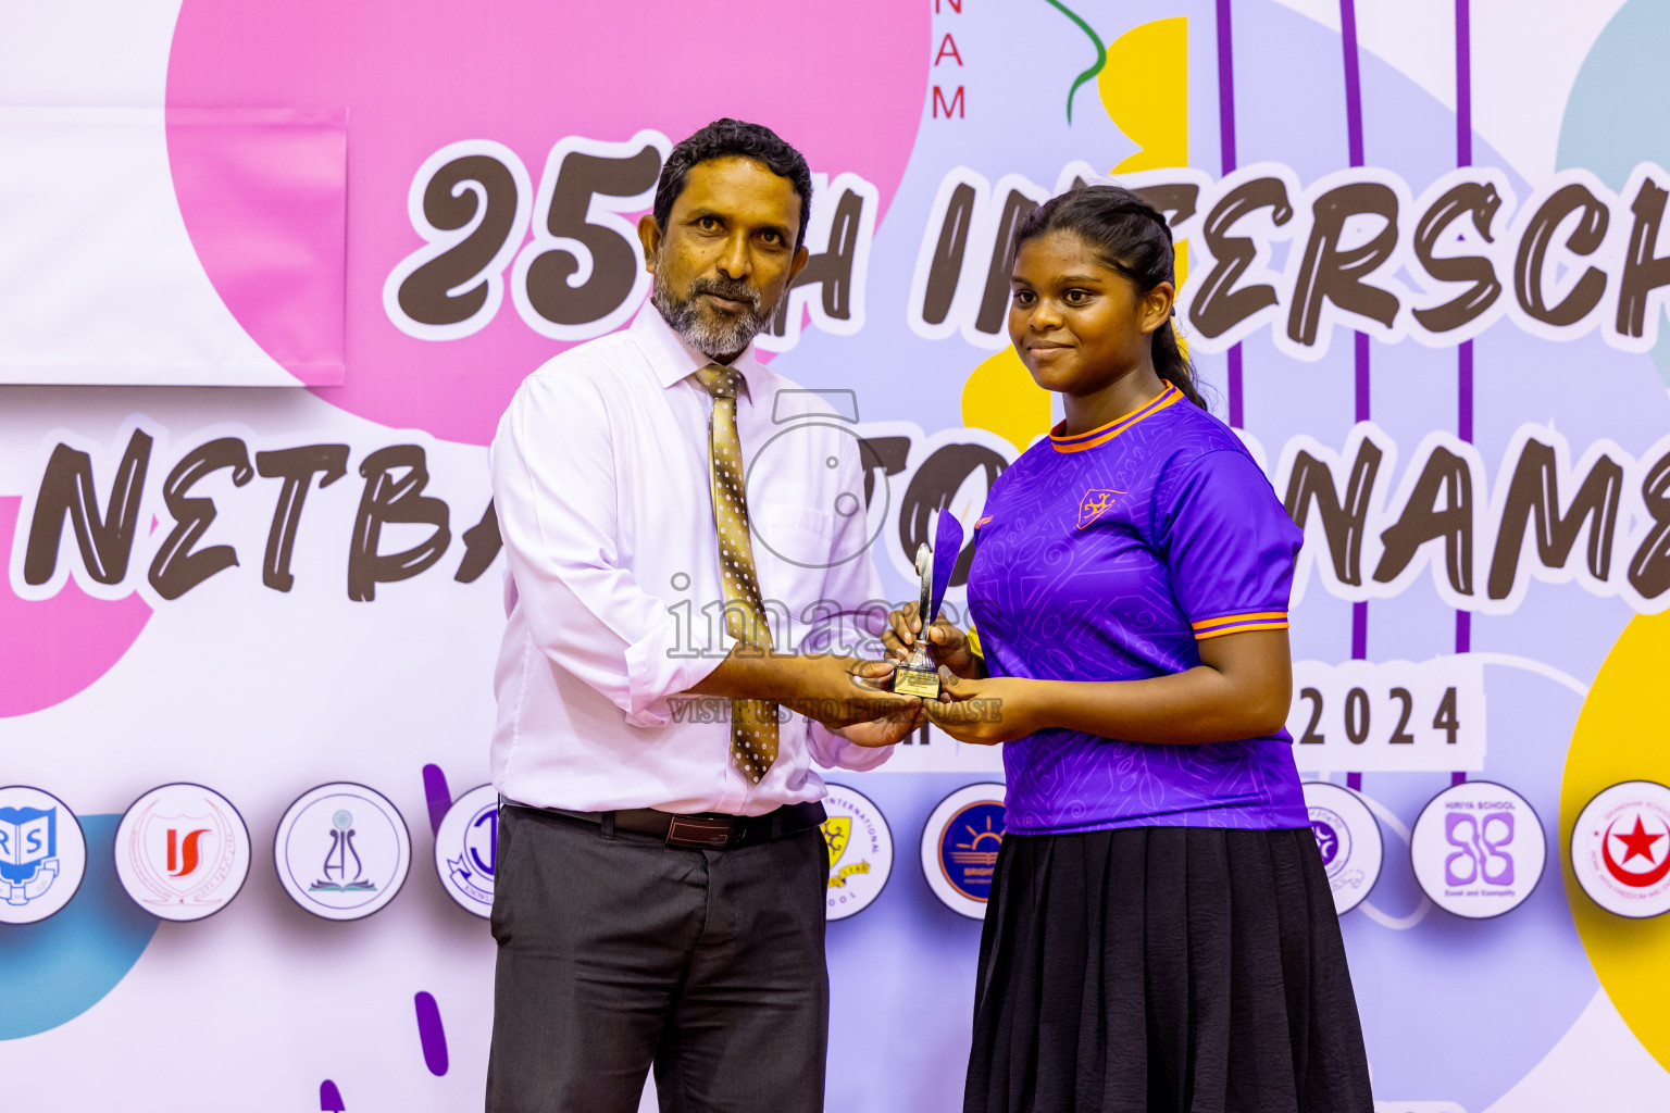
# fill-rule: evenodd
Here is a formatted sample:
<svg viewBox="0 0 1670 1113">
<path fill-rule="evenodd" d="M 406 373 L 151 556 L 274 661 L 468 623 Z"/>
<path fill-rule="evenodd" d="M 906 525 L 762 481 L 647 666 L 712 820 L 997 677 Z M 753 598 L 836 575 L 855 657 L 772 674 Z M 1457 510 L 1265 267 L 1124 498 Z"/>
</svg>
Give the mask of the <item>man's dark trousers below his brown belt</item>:
<svg viewBox="0 0 1670 1113">
<path fill-rule="evenodd" d="M 488 1113 L 822 1113 L 817 828 L 726 851 L 506 806 Z"/>
</svg>

